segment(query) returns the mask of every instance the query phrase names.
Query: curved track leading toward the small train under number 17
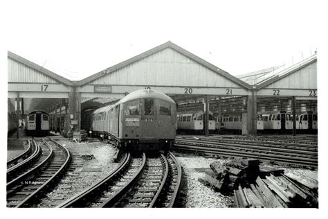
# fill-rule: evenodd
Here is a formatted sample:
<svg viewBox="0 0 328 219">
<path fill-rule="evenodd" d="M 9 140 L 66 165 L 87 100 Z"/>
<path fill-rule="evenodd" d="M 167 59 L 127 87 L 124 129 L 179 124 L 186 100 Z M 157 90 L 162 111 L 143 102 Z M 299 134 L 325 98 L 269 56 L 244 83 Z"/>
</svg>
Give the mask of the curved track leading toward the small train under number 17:
<svg viewBox="0 0 328 219">
<path fill-rule="evenodd" d="M 39 145 L 39 159 L 7 183 L 7 207 L 30 207 L 45 195 L 69 166 L 69 150 L 55 141 Z"/>
</svg>

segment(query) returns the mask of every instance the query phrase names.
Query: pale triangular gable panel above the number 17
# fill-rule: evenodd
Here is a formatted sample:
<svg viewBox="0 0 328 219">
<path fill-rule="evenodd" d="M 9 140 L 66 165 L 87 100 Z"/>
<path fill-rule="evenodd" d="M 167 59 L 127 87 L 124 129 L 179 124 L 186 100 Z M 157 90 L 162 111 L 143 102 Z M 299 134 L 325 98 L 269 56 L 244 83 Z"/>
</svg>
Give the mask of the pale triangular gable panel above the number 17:
<svg viewBox="0 0 328 219">
<path fill-rule="evenodd" d="M 12 58 L 8 58 L 8 82 L 58 83 L 57 80 Z"/>
</svg>

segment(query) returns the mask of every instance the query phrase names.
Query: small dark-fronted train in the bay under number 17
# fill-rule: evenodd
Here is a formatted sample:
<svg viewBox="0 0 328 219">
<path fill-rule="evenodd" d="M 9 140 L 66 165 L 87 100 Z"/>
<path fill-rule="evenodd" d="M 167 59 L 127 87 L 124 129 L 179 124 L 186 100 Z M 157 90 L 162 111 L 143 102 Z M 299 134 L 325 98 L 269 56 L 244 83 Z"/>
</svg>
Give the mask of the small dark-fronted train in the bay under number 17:
<svg viewBox="0 0 328 219">
<path fill-rule="evenodd" d="M 26 117 L 26 134 L 44 136 L 49 133 L 49 114 L 42 110 L 34 110 Z"/>
</svg>

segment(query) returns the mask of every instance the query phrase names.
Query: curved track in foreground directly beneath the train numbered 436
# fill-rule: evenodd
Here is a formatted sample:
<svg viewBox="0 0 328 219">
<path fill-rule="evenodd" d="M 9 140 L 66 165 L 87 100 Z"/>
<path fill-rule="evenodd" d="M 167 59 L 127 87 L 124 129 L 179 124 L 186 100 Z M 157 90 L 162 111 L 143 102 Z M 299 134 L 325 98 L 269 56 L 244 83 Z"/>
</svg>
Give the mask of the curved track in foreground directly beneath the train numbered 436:
<svg viewBox="0 0 328 219">
<path fill-rule="evenodd" d="M 60 207 L 172 207 L 181 182 L 174 155 L 123 155 L 116 170 Z"/>
</svg>

